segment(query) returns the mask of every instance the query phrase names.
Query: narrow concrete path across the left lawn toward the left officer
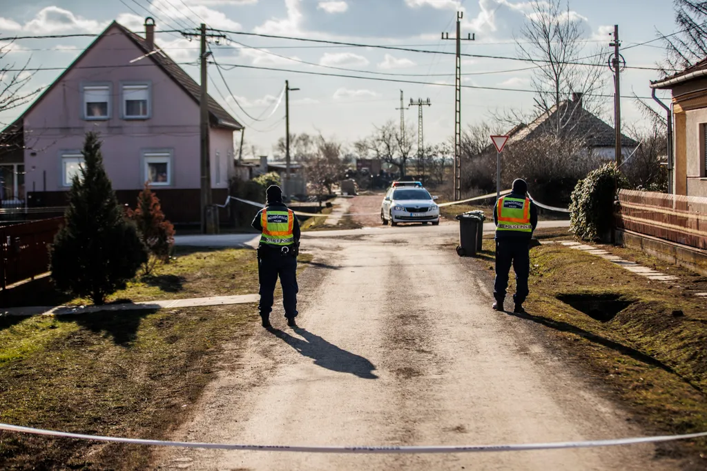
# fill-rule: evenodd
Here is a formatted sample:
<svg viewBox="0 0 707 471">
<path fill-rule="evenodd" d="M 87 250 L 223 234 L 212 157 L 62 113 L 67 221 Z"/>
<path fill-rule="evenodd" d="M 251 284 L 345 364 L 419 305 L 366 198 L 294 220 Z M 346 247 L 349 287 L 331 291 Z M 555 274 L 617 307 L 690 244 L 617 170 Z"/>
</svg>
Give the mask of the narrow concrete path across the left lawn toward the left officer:
<svg viewBox="0 0 707 471">
<path fill-rule="evenodd" d="M 163 301 L 104 304 L 103 306 L 28 306 L 0 310 L 0 316 L 66 316 L 69 314 L 92 314 L 103 311 L 139 311 L 143 309 L 171 309 L 180 307 L 223 306 L 258 302 L 257 294 L 240 296 L 214 296 L 191 299 L 167 299 Z"/>
</svg>

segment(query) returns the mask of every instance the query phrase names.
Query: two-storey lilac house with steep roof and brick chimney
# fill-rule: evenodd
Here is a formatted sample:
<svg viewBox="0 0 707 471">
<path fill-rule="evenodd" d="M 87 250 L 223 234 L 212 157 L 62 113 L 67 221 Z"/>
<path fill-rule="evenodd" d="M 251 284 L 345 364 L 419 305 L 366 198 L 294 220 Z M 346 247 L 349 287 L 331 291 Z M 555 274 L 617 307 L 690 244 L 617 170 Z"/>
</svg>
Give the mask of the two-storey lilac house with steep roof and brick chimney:
<svg viewBox="0 0 707 471">
<path fill-rule="evenodd" d="M 61 206 L 82 162 L 86 131 L 99 131 L 103 160 L 119 201 L 134 205 L 150 181 L 173 222 L 199 222 L 199 84 L 145 37 L 115 21 L 4 131 L 3 198 Z M 233 133 L 243 129 L 209 97 L 211 187 L 226 201 L 235 174 Z M 21 176 L 21 177 L 19 177 Z"/>
</svg>

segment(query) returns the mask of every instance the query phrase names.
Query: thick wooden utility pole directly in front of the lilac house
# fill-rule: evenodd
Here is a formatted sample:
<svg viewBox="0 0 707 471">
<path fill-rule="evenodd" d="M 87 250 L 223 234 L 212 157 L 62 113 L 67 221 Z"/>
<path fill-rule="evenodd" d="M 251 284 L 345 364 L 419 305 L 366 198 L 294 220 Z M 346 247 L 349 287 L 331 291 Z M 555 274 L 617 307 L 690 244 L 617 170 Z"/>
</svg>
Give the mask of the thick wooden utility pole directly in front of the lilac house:
<svg viewBox="0 0 707 471">
<path fill-rule="evenodd" d="M 218 210 L 214 208 L 211 201 L 211 158 L 209 144 L 209 93 L 206 89 L 206 81 L 208 77 L 207 67 L 208 59 L 211 54 L 206 50 L 206 39 L 216 38 L 225 39 L 226 35 L 221 32 L 214 31 L 211 28 L 206 28 L 204 23 L 199 26 L 198 32 L 182 32 L 185 37 L 198 36 L 201 41 L 201 94 L 199 96 L 199 133 L 200 139 L 200 157 L 201 157 L 201 233 L 216 234 L 218 232 Z"/>
</svg>

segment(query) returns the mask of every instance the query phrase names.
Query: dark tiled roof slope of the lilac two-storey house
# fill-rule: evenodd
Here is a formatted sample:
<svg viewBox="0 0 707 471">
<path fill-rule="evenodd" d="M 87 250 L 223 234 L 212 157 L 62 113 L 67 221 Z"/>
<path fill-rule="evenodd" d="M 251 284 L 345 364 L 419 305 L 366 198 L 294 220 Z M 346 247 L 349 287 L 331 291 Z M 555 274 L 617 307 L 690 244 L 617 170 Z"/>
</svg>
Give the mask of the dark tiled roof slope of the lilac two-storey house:
<svg viewBox="0 0 707 471">
<path fill-rule="evenodd" d="M 120 28 L 120 30 L 122 30 L 127 37 L 133 40 L 133 42 L 135 42 L 135 44 L 137 44 L 137 46 L 142 49 L 145 54 L 152 52 L 144 37 L 136 35 L 134 32 L 129 31 L 119 23 L 115 23 L 115 25 Z M 160 68 L 162 68 L 163 71 L 165 71 L 165 73 L 167 73 L 167 75 L 177 83 L 177 85 L 180 85 L 189 96 L 199 103 L 201 99 L 201 87 L 199 84 L 157 45 L 155 45 L 155 49 L 158 49 L 158 52 L 150 54 L 148 57 L 152 59 L 155 64 L 160 66 Z M 233 118 L 230 113 L 226 111 L 226 109 L 223 109 L 223 107 L 219 105 L 218 102 L 211 97 L 211 95 L 209 95 L 209 115 L 211 124 L 214 126 L 224 126 L 238 130 L 243 129 L 243 126 L 236 121 L 235 118 Z"/>
</svg>

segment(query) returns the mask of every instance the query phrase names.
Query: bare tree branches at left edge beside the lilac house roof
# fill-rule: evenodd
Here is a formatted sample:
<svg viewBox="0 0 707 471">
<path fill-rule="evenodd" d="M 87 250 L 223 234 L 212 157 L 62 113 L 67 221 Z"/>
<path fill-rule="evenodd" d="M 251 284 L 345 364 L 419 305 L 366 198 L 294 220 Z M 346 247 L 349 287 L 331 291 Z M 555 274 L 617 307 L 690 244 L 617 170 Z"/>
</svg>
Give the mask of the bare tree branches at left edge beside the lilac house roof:
<svg viewBox="0 0 707 471">
<path fill-rule="evenodd" d="M 31 58 L 19 68 L 7 60 L 13 44 L 13 41 L 0 42 L 0 113 L 27 105 L 42 91 L 42 88 L 27 90 L 34 76 L 34 72 L 27 70 Z M 21 125 L 12 124 L 0 133 L 0 153 L 24 148 L 20 129 Z"/>
</svg>

